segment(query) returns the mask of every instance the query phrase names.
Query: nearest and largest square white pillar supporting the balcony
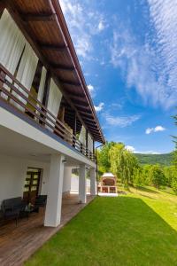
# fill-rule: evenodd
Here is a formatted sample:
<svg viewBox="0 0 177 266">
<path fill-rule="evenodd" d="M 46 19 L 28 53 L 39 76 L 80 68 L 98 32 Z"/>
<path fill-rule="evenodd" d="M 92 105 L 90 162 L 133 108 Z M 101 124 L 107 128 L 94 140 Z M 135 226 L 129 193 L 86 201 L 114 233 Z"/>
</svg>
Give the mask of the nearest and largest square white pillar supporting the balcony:
<svg viewBox="0 0 177 266">
<path fill-rule="evenodd" d="M 60 223 L 64 176 L 63 160 L 65 160 L 63 155 L 52 154 L 50 157 L 50 176 L 44 220 L 45 226 L 56 227 Z"/>
</svg>

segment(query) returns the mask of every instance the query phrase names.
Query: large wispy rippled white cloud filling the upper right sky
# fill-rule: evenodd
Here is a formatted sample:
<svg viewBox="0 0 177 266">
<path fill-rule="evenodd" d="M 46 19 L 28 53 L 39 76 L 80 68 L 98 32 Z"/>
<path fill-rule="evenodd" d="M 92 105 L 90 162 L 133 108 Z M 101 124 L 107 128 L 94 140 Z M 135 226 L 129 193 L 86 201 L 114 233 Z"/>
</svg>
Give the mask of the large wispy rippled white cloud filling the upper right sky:
<svg viewBox="0 0 177 266">
<path fill-rule="evenodd" d="M 150 34 L 144 43 L 138 43 L 131 29 L 118 22 L 113 31 L 111 63 L 121 69 L 127 87 L 135 88 L 144 103 L 169 108 L 177 99 L 177 1 L 148 3 Z"/>
</svg>

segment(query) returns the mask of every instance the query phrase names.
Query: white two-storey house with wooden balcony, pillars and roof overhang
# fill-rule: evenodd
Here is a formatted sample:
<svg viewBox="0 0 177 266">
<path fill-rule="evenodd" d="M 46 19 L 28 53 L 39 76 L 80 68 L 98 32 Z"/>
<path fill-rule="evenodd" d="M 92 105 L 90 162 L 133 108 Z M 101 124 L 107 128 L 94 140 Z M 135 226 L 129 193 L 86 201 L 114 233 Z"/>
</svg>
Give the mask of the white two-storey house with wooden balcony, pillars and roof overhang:
<svg viewBox="0 0 177 266">
<path fill-rule="evenodd" d="M 47 195 L 44 225 L 60 223 L 79 168 L 79 200 L 96 194 L 95 142 L 104 136 L 58 0 L 0 3 L 0 204 Z"/>
</svg>

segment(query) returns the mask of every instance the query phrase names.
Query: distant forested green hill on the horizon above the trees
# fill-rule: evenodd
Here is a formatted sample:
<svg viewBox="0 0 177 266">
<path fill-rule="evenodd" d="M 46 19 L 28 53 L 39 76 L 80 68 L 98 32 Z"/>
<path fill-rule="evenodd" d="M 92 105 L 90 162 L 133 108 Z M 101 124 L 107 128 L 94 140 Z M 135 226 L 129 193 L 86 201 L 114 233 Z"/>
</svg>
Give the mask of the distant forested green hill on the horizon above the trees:
<svg viewBox="0 0 177 266">
<path fill-rule="evenodd" d="M 135 156 L 138 158 L 141 164 L 161 164 L 161 165 L 171 165 L 173 160 L 172 153 L 164 154 L 142 154 L 135 153 Z"/>
</svg>

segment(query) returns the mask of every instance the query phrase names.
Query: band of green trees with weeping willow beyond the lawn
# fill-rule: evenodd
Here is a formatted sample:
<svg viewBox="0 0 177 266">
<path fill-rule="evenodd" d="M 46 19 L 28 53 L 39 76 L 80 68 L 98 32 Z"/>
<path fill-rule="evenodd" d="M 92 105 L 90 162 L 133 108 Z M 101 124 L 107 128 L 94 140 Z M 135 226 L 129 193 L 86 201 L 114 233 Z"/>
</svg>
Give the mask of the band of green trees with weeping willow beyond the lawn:
<svg viewBox="0 0 177 266">
<path fill-rule="evenodd" d="M 125 188 L 128 188 L 129 185 L 136 187 L 152 185 L 158 189 L 167 186 L 177 194 L 177 151 L 171 155 L 171 164 L 170 159 L 166 162 L 166 158 L 159 154 L 153 154 L 155 156 L 151 157 L 151 161 L 150 157 L 146 157 L 146 163 L 141 163 L 141 155 L 145 154 L 138 154 L 140 155 L 139 159 L 137 154 L 128 151 L 123 143 L 115 142 L 107 142 L 97 151 L 96 155 L 99 176 L 102 176 L 104 172 L 111 171 Z M 157 157 L 158 160 L 156 160 Z M 159 161 L 159 157 L 161 157 L 161 161 Z"/>
</svg>

